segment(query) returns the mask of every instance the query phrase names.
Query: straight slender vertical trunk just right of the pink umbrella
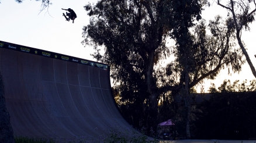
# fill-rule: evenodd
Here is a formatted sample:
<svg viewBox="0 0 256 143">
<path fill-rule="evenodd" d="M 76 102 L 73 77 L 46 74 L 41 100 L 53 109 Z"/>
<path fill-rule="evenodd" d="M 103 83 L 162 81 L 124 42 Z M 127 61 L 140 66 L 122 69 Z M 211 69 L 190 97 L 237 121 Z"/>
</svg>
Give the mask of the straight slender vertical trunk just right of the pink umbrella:
<svg viewBox="0 0 256 143">
<path fill-rule="evenodd" d="M 188 72 L 188 56 L 185 53 L 185 107 L 186 107 L 186 138 L 190 139 L 190 102 L 189 102 L 189 72 Z"/>
</svg>

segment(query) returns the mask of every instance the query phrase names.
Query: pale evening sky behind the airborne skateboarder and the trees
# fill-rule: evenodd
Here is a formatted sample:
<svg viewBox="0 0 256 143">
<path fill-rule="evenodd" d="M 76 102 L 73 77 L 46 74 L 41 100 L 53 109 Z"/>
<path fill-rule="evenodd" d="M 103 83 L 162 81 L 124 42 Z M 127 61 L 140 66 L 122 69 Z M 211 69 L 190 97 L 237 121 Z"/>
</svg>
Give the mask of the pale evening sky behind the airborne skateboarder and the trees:
<svg viewBox="0 0 256 143">
<path fill-rule="evenodd" d="M 95 52 L 94 49 L 81 44 L 82 28 L 89 24 L 89 16 L 84 10 L 84 6 L 88 2 L 96 3 L 96 0 L 52 0 L 53 4 L 50 5 L 48 12 L 47 10 L 40 12 L 41 2 L 35 0 L 25 0 L 22 3 L 17 3 L 15 0 L 0 0 L 0 2 L 0 41 L 96 61 L 90 56 L 90 53 Z M 65 21 L 62 13 L 67 11 L 61 10 L 61 8 L 71 8 L 75 11 L 77 19 L 74 24 L 71 21 Z M 202 12 L 203 19 L 207 21 L 214 19 L 216 15 L 223 17 L 227 15 L 227 10 L 217 6 L 216 2 Z M 256 67 L 254 58 L 256 54 L 256 22 L 250 24 L 250 27 L 250 31 L 243 31 L 241 38 Z M 225 79 L 231 80 L 231 82 L 245 79 L 250 81 L 255 77 L 252 75 L 248 63 L 242 66 L 242 71 L 239 74 L 229 75 L 227 69 L 223 69 L 215 80 L 205 81 L 203 84 L 205 92 L 209 89 L 210 83 L 219 87 Z M 196 90 L 200 92 L 200 86 Z"/>
</svg>

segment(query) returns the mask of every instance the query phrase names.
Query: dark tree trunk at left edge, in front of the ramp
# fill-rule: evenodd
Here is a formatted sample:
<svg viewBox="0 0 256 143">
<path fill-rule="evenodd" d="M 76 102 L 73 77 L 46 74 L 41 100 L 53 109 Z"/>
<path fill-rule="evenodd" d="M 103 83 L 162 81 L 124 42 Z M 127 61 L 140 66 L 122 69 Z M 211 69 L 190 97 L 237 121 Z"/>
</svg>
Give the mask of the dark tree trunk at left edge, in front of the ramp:
<svg viewBox="0 0 256 143">
<path fill-rule="evenodd" d="M 14 142 L 10 115 L 5 104 L 4 82 L 0 72 L 0 142 Z"/>
</svg>

